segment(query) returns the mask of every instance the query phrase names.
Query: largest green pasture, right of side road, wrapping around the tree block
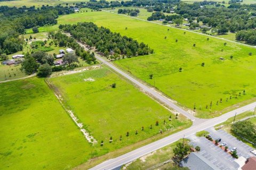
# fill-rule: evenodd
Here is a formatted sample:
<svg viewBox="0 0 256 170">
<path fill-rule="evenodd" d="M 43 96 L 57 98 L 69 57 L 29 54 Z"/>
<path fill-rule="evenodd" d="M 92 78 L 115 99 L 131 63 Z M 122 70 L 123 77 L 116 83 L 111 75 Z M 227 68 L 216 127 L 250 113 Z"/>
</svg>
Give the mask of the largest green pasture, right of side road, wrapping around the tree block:
<svg viewBox="0 0 256 170">
<path fill-rule="evenodd" d="M 152 86 L 155 83 L 156 88 L 180 105 L 190 109 L 195 106 L 198 117 L 218 116 L 234 108 L 230 106 L 255 99 L 256 48 L 103 11 L 58 19 L 59 24 L 84 21 L 103 25 L 153 48 L 153 55 L 126 58 L 115 64 L 123 70 L 130 67 L 135 77 Z M 153 74 L 153 79 L 149 79 L 149 74 Z"/>
</svg>

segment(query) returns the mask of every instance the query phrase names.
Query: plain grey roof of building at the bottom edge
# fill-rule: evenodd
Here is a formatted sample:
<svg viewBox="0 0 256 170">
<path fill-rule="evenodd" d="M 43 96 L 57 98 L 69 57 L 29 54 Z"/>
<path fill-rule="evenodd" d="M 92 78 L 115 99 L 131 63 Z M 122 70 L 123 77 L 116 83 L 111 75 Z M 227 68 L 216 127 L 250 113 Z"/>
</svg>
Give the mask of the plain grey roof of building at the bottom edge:
<svg viewBox="0 0 256 170">
<path fill-rule="evenodd" d="M 183 159 L 181 166 L 188 167 L 190 170 L 215 170 L 219 169 L 217 166 L 213 165 L 209 160 L 204 158 L 197 152 L 191 152 L 187 158 Z"/>
</svg>

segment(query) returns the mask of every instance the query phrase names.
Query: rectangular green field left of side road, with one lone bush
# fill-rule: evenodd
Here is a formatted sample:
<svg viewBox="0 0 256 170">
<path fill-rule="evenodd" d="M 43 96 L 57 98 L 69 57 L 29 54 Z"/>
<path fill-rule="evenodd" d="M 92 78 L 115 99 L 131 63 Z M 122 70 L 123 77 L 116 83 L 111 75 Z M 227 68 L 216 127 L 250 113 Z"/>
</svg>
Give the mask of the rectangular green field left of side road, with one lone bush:
<svg viewBox="0 0 256 170">
<path fill-rule="evenodd" d="M 191 125 L 186 117 L 179 115 L 176 119 L 166 108 L 106 67 L 50 81 L 60 92 L 66 107 L 98 141 L 95 146 L 101 148 L 102 154 L 157 135 L 161 129 L 164 134 L 170 134 Z M 111 87 L 113 83 L 116 88 Z M 111 143 L 110 137 L 113 138 Z M 102 140 L 104 145 L 100 146 Z"/>
</svg>

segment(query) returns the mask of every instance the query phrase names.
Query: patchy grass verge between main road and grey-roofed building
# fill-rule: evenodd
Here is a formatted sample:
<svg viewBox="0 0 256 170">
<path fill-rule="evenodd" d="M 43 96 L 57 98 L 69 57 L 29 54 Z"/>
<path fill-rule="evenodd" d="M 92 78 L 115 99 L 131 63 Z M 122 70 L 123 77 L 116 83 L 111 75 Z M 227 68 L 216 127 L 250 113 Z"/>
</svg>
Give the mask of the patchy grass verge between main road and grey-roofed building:
<svg viewBox="0 0 256 170">
<path fill-rule="evenodd" d="M 153 167 L 157 164 L 163 163 L 166 160 L 171 159 L 174 156 L 173 149 L 176 147 L 178 142 L 183 142 L 182 139 L 180 139 L 177 142 L 172 143 L 171 145 L 168 145 L 166 147 L 163 147 L 161 149 L 158 149 L 148 155 L 145 155 L 131 164 L 125 166 L 127 170 L 132 169 L 148 169 L 150 167 Z M 185 142 L 189 142 L 188 139 L 185 139 Z M 165 169 L 167 167 L 172 167 L 173 163 L 167 163 L 161 167 L 158 167 L 157 169 Z"/>
</svg>

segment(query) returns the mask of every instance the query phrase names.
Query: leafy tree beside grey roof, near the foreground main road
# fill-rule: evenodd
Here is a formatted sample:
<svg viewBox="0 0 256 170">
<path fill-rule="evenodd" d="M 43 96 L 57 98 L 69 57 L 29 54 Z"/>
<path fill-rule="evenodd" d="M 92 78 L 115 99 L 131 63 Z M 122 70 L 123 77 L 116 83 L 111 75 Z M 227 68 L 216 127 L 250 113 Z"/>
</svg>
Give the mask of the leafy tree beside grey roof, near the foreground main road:
<svg viewBox="0 0 256 170">
<path fill-rule="evenodd" d="M 181 160 L 188 155 L 189 150 L 190 146 L 187 143 L 177 143 L 176 148 L 173 149 L 174 159 L 177 160 L 178 163 L 180 163 Z"/>
</svg>

